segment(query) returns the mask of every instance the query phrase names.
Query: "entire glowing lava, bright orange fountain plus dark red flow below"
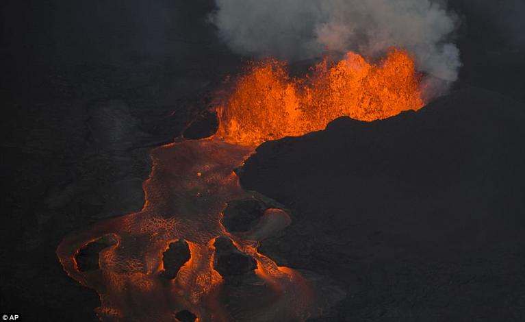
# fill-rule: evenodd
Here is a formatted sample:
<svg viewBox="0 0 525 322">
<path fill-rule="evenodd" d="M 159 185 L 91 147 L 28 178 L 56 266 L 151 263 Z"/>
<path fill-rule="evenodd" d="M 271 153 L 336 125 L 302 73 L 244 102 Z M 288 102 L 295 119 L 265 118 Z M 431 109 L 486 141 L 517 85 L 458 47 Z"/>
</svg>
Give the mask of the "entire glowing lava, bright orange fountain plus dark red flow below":
<svg viewBox="0 0 525 322">
<path fill-rule="evenodd" d="M 324 309 L 315 279 L 257 251 L 290 216 L 244 190 L 233 170 L 266 140 L 318 131 L 339 116 L 373 121 L 418 110 L 421 97 L 420 75 L 401 49 L 373 64 L 351 52 L 340 62 L 323 60 L 300 79 L 276 60 L 249 64 L 215 107 L 214 136 L 153 150 L 142 210 L 67 236 L 57 256 L 69 276 L 97 290 L 101 321 L 315 317 Z M 229 231 L 225 210 L 246 200 L 264 209 L 244 231 Z M 79 261 L 90 247 L 99 247 L 94 268 Z"/>
</svg>

